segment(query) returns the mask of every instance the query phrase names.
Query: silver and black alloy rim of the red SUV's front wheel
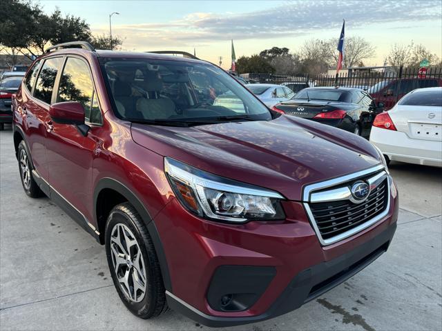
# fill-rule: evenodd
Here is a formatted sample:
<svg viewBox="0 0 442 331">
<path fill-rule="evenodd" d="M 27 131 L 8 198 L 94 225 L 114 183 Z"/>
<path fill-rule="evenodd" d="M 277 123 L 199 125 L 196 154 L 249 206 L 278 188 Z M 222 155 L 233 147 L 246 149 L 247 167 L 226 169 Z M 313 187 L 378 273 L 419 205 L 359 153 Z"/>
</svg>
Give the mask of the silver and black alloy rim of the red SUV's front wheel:
<svg viewBox="0 0 442 331">
<path fill-rule="evenodd" d="M 113 270 L 126 297 L 140 302 L 146 294 L 146 268 L 140 245 L 129 228 L 117 223 L 111 232 Z"/>
</svg>

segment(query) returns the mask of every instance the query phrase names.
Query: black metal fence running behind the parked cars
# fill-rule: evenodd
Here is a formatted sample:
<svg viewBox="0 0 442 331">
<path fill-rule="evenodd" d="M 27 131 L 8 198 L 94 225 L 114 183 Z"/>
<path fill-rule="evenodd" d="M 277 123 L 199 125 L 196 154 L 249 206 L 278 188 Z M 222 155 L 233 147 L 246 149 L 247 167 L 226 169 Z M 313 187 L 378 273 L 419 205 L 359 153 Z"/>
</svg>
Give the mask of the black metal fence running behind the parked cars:
<svg viewBox="0 0 442 331">
<path fill-rule="evenodd" d="M 315 86 L 340 86 L 349 88 L 361 88 L 369 90 L 376 86 L 374 92 L 386 86 L 390 81 L 398 81 L 395 94 L 410 92 L 415 88 L 425 88 L 431 86 L 442 86 L 442 68 L 398 68 L 398 70 L 349 70 L 336 75 L 319 74 L 309 76 L 308 74 L 240 74 L 251 83 L 307 83 L 310 87 Z M 377 89 L 377 90 L 376 90 Z"/>
</svg>

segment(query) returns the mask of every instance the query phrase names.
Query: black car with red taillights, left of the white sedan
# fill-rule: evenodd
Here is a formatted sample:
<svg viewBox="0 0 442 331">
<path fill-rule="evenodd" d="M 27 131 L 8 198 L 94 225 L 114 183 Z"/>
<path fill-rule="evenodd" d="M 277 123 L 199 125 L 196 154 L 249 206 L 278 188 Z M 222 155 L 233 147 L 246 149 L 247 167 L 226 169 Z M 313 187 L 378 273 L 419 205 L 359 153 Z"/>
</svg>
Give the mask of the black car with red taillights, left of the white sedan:
<svg viewBox="0 0 442 331">
<path fill-rule="evenodd" d="M 273 110 L 335 126 L 369 137 L 376 113 L 382 108 L 358 88 L 305 88 L 290 101 L 278 103 Z"/>
</svg>

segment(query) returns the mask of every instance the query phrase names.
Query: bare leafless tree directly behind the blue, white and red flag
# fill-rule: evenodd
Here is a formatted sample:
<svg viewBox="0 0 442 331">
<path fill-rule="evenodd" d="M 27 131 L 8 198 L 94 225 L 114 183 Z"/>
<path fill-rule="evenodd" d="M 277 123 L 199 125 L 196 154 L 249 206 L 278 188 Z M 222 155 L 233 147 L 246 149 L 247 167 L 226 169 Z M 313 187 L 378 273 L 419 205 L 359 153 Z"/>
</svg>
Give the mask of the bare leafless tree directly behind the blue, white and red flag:
<svg viewBox="0 0 442 331">
<path fill-rule="evenodd" d="M 330 57 L 334 64 L 338 63 L 339 52 L 336 49 L 338 39 L 330 39 L 328 41 Z M 344 63 L 347 68 L 358 66 L 365 59 L 374 57 L 376 48 L 362 37 L 348 37 L 345 39 L 345 56 Z"/>
</svg>

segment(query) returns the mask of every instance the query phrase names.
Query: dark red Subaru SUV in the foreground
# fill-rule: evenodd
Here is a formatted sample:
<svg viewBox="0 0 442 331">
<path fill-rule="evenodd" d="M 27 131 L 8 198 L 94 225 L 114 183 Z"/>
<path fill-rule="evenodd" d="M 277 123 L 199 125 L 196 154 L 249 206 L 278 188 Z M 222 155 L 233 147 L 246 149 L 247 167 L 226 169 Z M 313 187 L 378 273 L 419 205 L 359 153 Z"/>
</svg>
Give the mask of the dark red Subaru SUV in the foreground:
<svg viewBox="0 0 442 331">
<path fill-rule="evenodd" d="M 242 107 L 213 106 L 226 93 Z M 144 319 L 167 306 L 210 326 L 285 314 L 372 263 L 396 230 L 374 146 L 269 110 L 206 61 L 61 44 L 12 110 L 26 194 L 105 245 L 119 297 Z"/>
</svg>

